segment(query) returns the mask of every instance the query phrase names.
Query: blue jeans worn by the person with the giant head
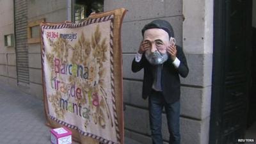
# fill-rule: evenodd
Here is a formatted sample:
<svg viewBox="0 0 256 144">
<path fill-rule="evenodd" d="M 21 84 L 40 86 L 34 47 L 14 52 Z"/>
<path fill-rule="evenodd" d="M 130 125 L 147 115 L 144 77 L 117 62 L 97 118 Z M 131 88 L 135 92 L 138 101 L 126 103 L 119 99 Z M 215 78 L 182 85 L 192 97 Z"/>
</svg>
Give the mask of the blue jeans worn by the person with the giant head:
<svg viewBox="0 0 256 144">
<path fill-rule="evenodd" d="M 163 94 L 152 90 L 148 98 L 150 130 L 153 144 L 163 144 L 161 125 L 163 107 L 166 111 L 170 144 L 180 144 L 180 101 L 172 104 L 166 103 Z"/>
</svg>

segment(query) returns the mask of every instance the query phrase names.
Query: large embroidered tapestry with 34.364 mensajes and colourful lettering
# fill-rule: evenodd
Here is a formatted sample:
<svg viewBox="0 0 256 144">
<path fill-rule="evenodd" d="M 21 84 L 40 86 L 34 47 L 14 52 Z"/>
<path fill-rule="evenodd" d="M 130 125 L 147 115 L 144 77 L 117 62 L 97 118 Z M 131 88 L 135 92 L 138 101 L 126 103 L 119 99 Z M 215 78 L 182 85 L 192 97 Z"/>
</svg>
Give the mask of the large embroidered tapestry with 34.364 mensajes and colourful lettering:
<svg viewBox="0 0 256 144">
<path fill-rule="evenodd" d="M 120 29 L 125 12 L 40 25 L 47 125 L 68 127 L 80 143 L 124 143 Z"/>
</svg>

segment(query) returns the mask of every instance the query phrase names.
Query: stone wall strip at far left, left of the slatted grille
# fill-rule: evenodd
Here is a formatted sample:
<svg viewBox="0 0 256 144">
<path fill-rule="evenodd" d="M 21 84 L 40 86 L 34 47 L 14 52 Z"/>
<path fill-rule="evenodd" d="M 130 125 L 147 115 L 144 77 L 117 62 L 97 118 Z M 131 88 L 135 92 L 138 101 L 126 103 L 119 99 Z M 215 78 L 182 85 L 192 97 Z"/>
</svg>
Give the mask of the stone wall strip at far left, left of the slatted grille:
<svg viewBox="0 0 256 144">
<path fill-rule="evenodd" d="M 4 35 L 14 33 L 13 1 L 0 1 L 0 81 L 12 86 L 17 84 L 14 47 L 4 46 Z"/>
</svg>

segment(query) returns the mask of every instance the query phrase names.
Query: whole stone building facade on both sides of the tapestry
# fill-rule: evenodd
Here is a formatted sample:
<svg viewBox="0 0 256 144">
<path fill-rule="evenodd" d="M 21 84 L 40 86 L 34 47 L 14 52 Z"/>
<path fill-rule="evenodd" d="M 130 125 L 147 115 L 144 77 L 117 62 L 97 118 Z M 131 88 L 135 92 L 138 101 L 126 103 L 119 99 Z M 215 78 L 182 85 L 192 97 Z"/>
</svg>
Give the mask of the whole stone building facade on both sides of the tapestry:
<svg viewBox="0 0 256 144">
<path fill-rule="evenodd" d="M 256 3 L 253 4 L 255 15 Z M 42 99 L 40 42 L 28 39 L 40 36 L 39 31 L 33 31 L 34 27 L 38 29 L 33 25 L 36 20 L 74 20 L 73 5 L 72 0 L 0 0 L 0 81 Z M 164 19 L 172 24 L 177 45 L 183 47 L 189 66 L 188 77 L 181 78 L 181 143 L 209 143 L 214 0 L 104 0 L 104 11 L 116 8 L 128 10 L 122 26 L 125 136 L 151 143 L 148 102 L 141 98 L 143 72 L 132 73 L 131 62 L 142 40 L 143 26 L 154 19 Z M 253 19 L 253 26 L 255 23 Z M 10 34 L 15 35 L 14 44 L 6 46 L 4 36 Z M 166 144 L 169 138 L 165 115 L 162 119 Z"/>
</svg>

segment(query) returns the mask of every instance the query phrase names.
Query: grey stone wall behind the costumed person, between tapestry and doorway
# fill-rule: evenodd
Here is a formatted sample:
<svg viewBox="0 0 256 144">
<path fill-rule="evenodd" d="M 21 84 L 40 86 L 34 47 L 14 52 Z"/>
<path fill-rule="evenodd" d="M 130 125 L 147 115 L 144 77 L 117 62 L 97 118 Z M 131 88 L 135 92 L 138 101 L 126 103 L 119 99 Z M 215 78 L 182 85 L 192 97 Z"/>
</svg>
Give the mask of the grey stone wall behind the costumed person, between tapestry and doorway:
<svg viewBox="0 0 256 144">
<path fill-rule="evenodd" d="M 181 143 L 208 143 L 213 1 L 104 1 L 105 11 L 121 7 L 128 10 L 122 27 L 125 136 L 141 143 L 151 143 L 148 102 L 141 98 L 143 71 L 132 73 L 131 62 L 142 40 L 143 26 L 154 19 L 164 19 L 172 24 L 177 45 L 183 46 L 189 65 L 189 76 L 181 79 Z M 164 143 L 169 140 L 165 113 L 163 139 Z"/>
</svg>

